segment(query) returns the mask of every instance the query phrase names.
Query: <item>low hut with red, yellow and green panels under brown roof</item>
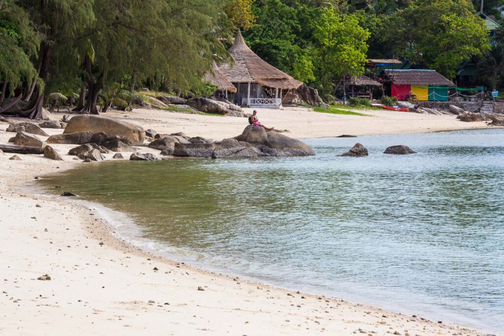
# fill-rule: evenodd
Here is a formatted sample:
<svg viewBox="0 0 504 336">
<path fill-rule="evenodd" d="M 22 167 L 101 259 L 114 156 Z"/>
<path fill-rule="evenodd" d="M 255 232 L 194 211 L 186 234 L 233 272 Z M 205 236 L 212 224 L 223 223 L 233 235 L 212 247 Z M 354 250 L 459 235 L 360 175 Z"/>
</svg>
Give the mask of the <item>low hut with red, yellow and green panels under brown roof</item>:
<svg viewBox="0 0 504 336">
<path fill-rule="evenodd" d="M 398 100 L 447 101 L 448 89 L 455 87 L 435 70 L 384 70 L 381 79 Z"/>
</svg>

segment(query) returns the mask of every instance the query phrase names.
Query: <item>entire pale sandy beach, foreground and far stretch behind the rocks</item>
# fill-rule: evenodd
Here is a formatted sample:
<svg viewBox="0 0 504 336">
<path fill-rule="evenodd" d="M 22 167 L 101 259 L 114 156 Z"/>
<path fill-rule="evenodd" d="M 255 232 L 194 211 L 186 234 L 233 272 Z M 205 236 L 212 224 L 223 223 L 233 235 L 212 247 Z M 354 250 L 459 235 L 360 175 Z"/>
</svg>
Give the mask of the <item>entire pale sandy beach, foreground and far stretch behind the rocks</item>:
<svg viewBox="0 0 504 336">
<path fill-rule="evenodd" d="M 489 127 L 455 116 L 363 113 L 372 117 L 286 108 L 259 110 L 259 118 L 299 139 Z M 236 136 L 246 125 L 244 118 L 145 109 L 106 116 L 159 133 L 182 131 L 214 140 Z M 0 122 L 1 144 L 15 135 L 7 127 Z M 36 176 L 100 164 L 66 155 L 76 145 L 53 147 L 65 161 L 40 155 L 18 155 L 22 161 L 13 161 L 12 154 L 0 154 L 0 335 L 480 334 L 470 326 L 287 291 L 150 255 L 114 238 L 93 206 L 26 188 Z M 141 152 L 159 154 L 148 148 Z M 50 281 L 37 280 L 46 274 Z"/>
</svg>

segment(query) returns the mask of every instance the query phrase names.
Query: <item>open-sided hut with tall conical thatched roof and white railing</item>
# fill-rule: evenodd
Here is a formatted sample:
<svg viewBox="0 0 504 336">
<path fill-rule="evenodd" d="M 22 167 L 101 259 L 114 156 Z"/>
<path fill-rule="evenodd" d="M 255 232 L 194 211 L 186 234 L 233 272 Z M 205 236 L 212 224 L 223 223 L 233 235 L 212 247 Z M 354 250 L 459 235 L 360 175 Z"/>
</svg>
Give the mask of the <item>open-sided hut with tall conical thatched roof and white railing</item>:
<svg viewBox="0 0 504 336">
<path fill-rule="evenodd" d="M 303 84 L 256 55 L 245 44 L 239 29 L 228 51 L 234 58 L 234 64 L 222 63 L 219 69 L 236 87 L 233 103 L 237 105 L 279 107 L 283 90 L 297 89 Z"/>
</svg>

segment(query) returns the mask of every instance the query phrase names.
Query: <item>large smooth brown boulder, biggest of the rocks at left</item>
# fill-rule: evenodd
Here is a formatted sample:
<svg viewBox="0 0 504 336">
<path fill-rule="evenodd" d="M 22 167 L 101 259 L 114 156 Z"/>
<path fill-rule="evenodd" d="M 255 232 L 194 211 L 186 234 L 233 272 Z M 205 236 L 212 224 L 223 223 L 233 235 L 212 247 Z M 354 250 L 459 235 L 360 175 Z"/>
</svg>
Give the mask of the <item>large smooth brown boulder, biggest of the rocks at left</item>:
<svg viewBox="0 0 504 336">
<path fill-rule="evenodd" d="M 145 130 L 137 124 L 101 115 L 76 115 L 70 119 L 64 133 L 89 131 L 104 132 L 109 136 L 128 137 L 135 144 L 144 141 Z"/>
</svg>

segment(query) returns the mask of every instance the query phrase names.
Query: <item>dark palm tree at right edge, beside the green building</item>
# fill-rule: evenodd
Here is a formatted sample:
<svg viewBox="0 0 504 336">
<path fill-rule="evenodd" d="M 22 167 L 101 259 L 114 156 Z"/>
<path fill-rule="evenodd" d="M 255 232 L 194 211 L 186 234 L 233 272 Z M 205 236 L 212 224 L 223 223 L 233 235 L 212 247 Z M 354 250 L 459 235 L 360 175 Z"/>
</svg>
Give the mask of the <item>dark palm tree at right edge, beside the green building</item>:
<svg viewBox="0 0 504 336">
<path fill-rule="evenodd" d="M 476 78 L 495 90 L 504 74 L 504 45 L 497 44 L 476 63 Z"/>
</svg>

